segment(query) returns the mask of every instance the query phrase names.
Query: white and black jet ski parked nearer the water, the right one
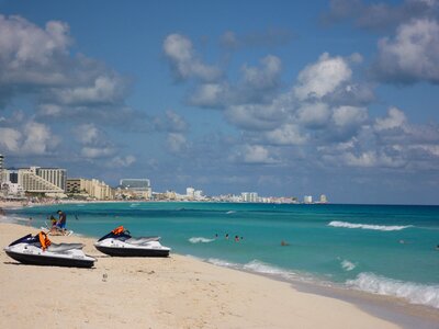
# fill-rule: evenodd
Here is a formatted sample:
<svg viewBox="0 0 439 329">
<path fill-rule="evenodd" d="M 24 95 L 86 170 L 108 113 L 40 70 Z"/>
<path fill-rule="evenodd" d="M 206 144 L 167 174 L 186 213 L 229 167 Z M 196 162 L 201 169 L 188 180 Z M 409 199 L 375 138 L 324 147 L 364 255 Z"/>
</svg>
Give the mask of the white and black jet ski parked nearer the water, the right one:
<svg viewBox="0 0 439 329">
<path fill-rule="evenodd" d="M 123 226 L 100 238 L 94 247 L 106 254 L 119 257 L 168 257 L 171 250 L 160 245 L 160 237 L 133 238 Z"/>
</svg>

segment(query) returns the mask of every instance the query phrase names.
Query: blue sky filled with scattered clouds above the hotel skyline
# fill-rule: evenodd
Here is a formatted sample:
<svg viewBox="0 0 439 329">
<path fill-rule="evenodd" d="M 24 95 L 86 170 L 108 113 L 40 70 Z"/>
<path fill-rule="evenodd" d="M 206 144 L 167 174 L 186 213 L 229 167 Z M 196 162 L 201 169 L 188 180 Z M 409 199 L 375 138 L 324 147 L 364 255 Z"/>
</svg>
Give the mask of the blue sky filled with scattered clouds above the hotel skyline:
<svg viewBox="0 0 439 329">
<path fill-rule="evenodd" d="M 8 168 L 439 204 L 438 106 L 438 0 L 0 0 Z"/>
</svg>

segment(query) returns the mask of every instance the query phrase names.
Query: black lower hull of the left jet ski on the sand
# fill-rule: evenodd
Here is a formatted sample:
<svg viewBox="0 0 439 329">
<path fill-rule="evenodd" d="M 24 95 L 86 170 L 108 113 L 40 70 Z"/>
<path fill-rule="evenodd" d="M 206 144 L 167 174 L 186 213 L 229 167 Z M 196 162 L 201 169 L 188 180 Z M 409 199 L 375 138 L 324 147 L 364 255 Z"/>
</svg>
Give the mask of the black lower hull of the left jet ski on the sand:
<svg viewBox="0 0 439 329">
<path fill-rule="evenodd" d="M 14 252 L 10 250 L 4 250 L 4 251 L 10 258 L 23 264 L 42 265 L 42 266 L 66 266 L 66 268 L 92 268 L 94 265 L 94 260 L 61 258 L 61 257 L 50 257 L 50 256 L 36 256 L 30 253 Z"/>
</svg>

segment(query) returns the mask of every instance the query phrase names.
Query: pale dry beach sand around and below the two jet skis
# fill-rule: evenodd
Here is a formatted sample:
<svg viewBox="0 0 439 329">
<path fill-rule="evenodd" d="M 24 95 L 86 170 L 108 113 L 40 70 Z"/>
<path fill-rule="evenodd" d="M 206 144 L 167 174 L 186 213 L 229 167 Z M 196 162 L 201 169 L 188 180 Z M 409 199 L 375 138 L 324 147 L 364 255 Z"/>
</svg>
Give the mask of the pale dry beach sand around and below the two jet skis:
<svg viewBox="0 0 439 329">
<path fill-rule="evenodd" d="M 7 246 L 32 227 L 0 224 Z M 0 327 L 24 328 L 398 328 L 357 306 L 290 283 L 172 253 L 111 258 L 78 236 L 93 269 L 22 265 L 0 257 Z"/>
</svg>

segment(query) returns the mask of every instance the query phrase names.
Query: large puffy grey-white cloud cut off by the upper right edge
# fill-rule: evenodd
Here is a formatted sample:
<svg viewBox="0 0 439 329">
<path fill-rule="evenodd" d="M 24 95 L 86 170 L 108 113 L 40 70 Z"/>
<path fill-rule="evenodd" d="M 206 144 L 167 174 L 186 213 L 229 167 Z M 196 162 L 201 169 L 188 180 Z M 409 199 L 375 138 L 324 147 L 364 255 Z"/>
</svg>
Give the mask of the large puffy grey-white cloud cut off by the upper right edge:
<svg viewBox="0 0 439 329">
<path fill-rule="evenodd" d="M 416 20 L 398 26 L 394 38 L 379 42 L 375 75 L 380 80 L 439 83 L 439 24 Z"/>
</svg>

